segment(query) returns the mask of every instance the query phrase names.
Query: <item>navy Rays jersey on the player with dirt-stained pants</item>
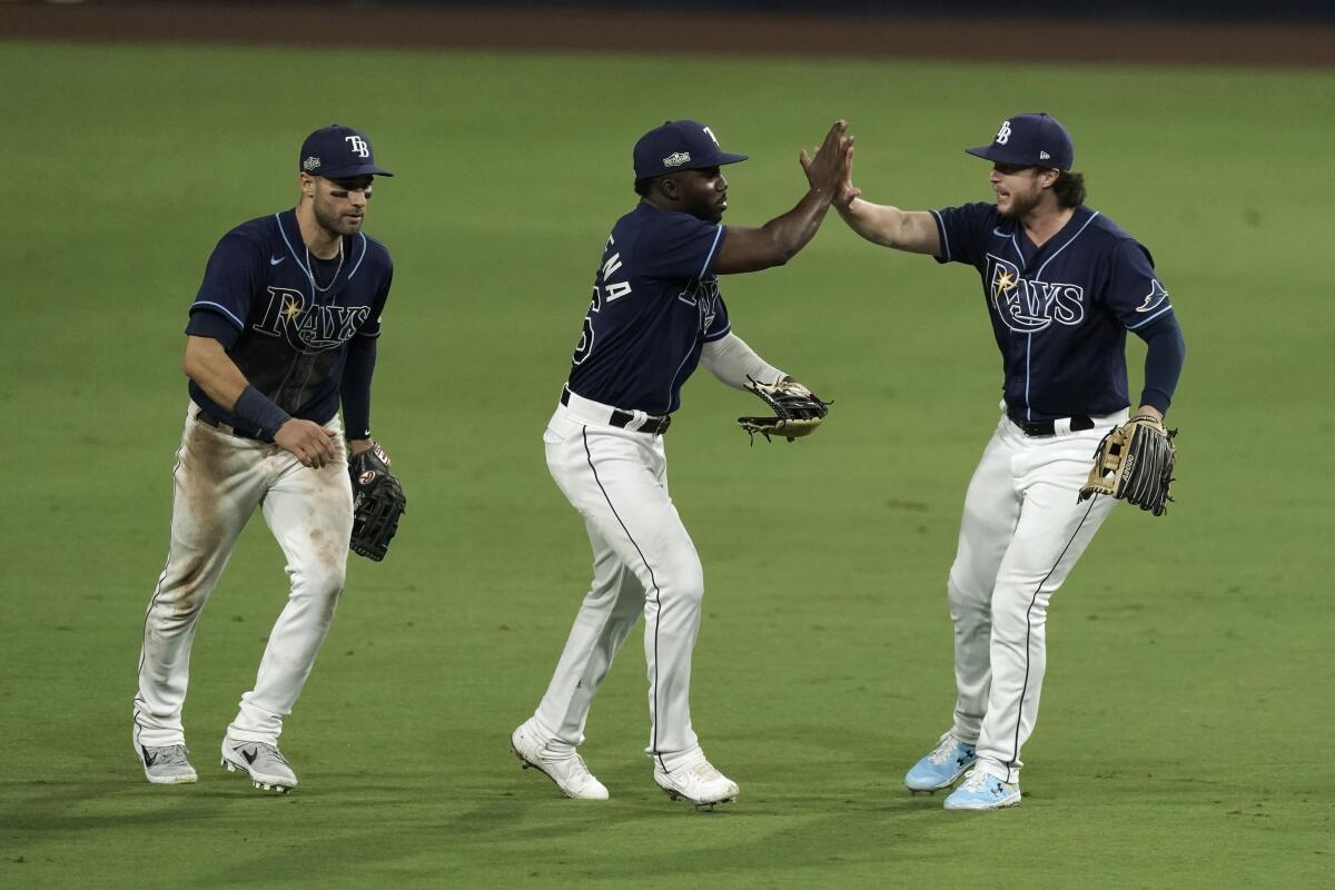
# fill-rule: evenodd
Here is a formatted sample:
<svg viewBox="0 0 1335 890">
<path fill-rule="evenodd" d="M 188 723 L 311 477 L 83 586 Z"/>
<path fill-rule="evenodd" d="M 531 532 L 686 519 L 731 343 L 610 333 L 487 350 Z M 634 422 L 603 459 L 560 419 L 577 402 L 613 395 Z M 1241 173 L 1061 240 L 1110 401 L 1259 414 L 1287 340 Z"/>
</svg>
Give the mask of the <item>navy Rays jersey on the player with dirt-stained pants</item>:
<svg viewBox="0 0 1335 890">
<path fill-rule="evenodd" d="M 190 307 L 186 334 L 227 350 L 252 387 L 294 418 L 328 423 L 352 338 L 376 338 L 390 294 L 390 252 L 364 234 L 343 239 L 343 259 L 310 258 L 295 211 L 242 223 L 218 243 Z M 236 418 L 190 382 L 190 396 L 231 426 Z"/>
</svg>

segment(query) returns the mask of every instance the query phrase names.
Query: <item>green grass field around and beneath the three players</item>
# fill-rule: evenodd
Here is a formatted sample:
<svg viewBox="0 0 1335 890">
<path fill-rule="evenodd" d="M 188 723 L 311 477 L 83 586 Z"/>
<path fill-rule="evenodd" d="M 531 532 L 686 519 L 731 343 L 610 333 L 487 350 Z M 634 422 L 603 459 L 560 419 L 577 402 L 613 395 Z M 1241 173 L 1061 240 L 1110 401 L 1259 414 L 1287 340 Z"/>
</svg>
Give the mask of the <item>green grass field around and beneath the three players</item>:
<svg viewBox="0 0 1335 890">
<path fill-rule="evenodd" d="M 1328 886 L 1331 72 L 16 43 L 0 72 L 0 885 Z M 900 786 L 948 726 L 945 571 L 1000 388 L 976 276 L 834 217 L 725 282 L 734 330 L 837 400 L 826 430 L 748 448 L 748 396 L 702 372 L 669 436 L 709 584 L 696 726 L 741 802 L 653 786 L 635 642 L 585 746 L 613 799 L 521 773 L 507 734 L 589 563 L 541 432 L 635 137 L 710 123 L 753 157 L 729 221 L 760 224 L 836 116 L 866 196 L 925 208 L 987 197 L 963 147 L 1035 108 L 1153 251 L 1189 354 L 1177 504 L 1117 511 L 1053 600 L 1024 806 L 961 817 Z M 286 594 L 260 522 L 195 647 L 200 781 L 150 786 L 129 709 L 186 310 L 334 120 L 399 173 L 368 220 L 396 260 L 374 415 L 411 512 L 384 563 L 350 566 L 283 735 L 300 790 L 216 766 Z"/>
</svg>

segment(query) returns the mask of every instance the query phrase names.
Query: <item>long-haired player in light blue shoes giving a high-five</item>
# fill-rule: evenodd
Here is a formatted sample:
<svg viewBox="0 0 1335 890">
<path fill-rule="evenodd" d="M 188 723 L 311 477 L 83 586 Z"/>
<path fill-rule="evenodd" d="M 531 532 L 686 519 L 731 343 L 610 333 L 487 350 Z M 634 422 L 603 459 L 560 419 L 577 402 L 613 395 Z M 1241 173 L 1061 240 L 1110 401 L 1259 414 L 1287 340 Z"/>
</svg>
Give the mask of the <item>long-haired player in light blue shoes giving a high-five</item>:
<svg viewBox="0 0 1335 890">
<path fill-rule="evenodd" d="M 996 203 L 905 212 L 837 205 L 862 238 L 979 270 L 1005 370 L 1001 416 L 969 482 L 948 594 L 955 722 L 908 771 L 912 791 L 955 785 L 951 810 L 1020 802 L 1020 749 L 1039 715 L 1048 600 L 1116 500 L 1081 502 L 1092 456 L 1127 420 L 1125 339 L 1148 344 L 1139 415 L 1161 420 L 1185 346 L 1153 259 L 1084 205 L 1071 136 L 1043 113 L 1001 124 L 991 145 Z"/>
</svg>

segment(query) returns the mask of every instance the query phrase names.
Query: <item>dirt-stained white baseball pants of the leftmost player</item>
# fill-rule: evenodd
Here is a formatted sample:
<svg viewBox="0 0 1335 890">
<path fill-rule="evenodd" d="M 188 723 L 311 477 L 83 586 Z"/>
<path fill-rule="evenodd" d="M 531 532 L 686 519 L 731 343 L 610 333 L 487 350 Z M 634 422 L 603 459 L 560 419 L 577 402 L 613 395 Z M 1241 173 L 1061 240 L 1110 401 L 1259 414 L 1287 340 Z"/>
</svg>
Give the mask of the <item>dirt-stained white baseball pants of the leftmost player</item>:
<svg viewBox="0 0 1335 890">
<path fill-rule="evenodd" d="M 276 743 L 334 620 L 347 568 L 352 487 L 342 420 L 335 460 L 312 470 L 282 447 L 234 436 L 196 419 L 190 406 L 176 454 L 167 567 L 148 602 L 135 697 L 139 745 L 184 743 L 182 709 L 195 627 L 242 528 L 260 507 L 287 556 L 287 604 L 270 631 L 255 687 L 242 695 L 227 734 Z"/>
</svg>

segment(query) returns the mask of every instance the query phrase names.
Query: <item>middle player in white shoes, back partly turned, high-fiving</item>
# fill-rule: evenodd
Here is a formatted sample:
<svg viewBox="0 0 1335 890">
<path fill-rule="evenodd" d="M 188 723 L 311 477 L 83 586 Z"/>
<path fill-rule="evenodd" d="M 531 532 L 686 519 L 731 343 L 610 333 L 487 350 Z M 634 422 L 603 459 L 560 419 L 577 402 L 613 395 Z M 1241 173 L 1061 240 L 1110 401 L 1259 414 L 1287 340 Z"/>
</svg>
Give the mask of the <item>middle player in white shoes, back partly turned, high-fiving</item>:
<svg viewBox="0 0 1335 890">
<path fill-rule="evenodd" d="M 722 151 L 709 127 L 673 120 L 635 143 L 641 200 L 607 238 L 543 435 L 547 467 L 583 516 L 593 583 L 546 694 L 510 738 L 525 766 L 567 797 L 607 798 L 575 747 L 598 685 L 643 612 L 654 782 L 697 806 L 737 798 L 737 783 L 709 763 L 690 725 L 705 578 L 668 492 L 663 434 L 698 363 L 738 388 L 789 379 L 732 332 L 718 276 L 782 266 L 802 250 L 848 176 L 852 143 L 837 121 L 814 157 L 802 152 L 809 191 L 761 228 L 720 224 L 721 167 L 746 156 Z"/>
</svg>

